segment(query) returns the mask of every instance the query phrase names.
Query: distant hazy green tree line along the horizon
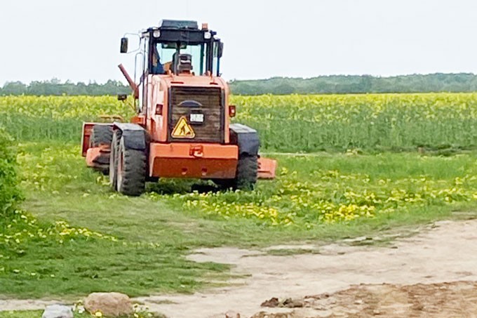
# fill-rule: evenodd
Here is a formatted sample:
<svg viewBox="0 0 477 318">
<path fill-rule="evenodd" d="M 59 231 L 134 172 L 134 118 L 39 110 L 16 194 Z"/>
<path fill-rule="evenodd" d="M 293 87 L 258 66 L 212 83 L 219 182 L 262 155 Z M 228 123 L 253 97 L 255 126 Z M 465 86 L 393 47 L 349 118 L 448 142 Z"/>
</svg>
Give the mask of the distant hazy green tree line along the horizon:
<svg viewBox="0 0 477 318">
<path fill-rule="evenodd" d="M 396 77 L 370 75 L 331 75 L 310 79 L 274 77 L 257 80 L 232 80 L 229 82 L 236 95 L 288 95 L 288 94 L 344 94 L 344 93 L 430 93 L 477 91 L 477 75 L 412 74 Z M 58 79 L 8 81 L 0 88 L 0 95 L 117 95 L 128 94 L 130 88 L 121 81 L 109 80 L 105 84 L 62 83 Z"/>
</svg>

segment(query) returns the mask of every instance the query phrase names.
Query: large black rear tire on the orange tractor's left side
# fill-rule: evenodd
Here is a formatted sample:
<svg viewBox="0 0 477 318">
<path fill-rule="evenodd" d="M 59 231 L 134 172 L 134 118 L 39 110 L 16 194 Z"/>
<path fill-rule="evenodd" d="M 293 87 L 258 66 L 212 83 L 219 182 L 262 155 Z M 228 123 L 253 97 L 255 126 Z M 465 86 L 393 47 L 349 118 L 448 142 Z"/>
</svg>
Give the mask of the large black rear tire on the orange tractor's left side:
<svg viewBox="0 0 477 318">
<path fill-rule="evenodd" d="M 117 155 L 117 191 L 137 197 L 145 192 L 146 153 L 142 150 L 126 149 L 121 138 Z"/>
</svg>

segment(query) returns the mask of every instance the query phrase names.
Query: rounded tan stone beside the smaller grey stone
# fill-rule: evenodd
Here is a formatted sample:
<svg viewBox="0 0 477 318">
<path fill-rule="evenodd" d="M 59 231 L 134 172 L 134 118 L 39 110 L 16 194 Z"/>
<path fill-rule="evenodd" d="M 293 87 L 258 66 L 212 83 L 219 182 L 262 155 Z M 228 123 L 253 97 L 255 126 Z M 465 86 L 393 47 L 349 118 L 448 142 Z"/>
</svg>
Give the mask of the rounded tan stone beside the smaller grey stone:
<svg viewBox="0 0 477 318">
<path fill-rule="evenodd" d="M 90 293 L 83 303 L 90 314 L 101 312 L 105 317 L 120 317 L 133 314 L 133 305 L 123 293 Z"/>
</svg>

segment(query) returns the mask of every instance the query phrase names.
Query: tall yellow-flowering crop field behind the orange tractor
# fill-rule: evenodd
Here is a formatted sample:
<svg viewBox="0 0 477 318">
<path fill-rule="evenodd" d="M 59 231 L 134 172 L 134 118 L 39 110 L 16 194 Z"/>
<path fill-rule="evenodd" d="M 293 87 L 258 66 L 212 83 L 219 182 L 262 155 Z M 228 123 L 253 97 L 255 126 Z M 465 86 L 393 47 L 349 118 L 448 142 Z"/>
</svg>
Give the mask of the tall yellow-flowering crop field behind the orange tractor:
<svg viewBox="0 0 477 318">
<path fill-rule="evenodd" d="M 476 147 L 477 93 L 233 96 L 236 121 L 277 152 Z M 114 97 L 6 96 L 0 125 L 18 140 L 79 140 L 81 121 L 130 117 Z"/>
</svg>

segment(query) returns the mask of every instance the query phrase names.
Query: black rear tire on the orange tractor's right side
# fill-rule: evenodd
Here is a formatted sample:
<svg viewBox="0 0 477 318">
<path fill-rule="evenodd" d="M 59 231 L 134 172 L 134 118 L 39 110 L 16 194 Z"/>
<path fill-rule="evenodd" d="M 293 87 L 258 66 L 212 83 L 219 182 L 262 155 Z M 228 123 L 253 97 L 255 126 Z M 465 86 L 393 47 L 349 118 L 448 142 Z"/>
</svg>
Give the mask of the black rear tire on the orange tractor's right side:
<svg viewBox="0 0 477 318">
<path fill-rule="evenodd" d="M 251 191 L 255 189 L 258 174 L 258 157 L 242 154 L 238 158 L 236 177 L 234 179 L 214 179 L 213 182 L 222 189 Z"/>
</svg>

